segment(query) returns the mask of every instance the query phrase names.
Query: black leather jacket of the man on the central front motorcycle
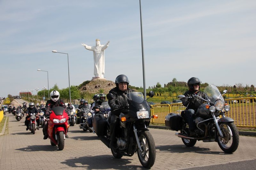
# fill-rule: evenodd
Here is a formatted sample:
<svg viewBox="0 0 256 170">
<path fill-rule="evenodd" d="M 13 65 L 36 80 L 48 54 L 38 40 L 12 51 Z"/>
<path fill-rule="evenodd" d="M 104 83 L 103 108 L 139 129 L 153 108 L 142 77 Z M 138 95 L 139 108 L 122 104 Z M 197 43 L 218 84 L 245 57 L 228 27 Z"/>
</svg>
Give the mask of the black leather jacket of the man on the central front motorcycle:
<svg viewBox="0 0 256 170">
<path fill-rule="evenodd" d="M 111 108 L 111 114 L 115 114 L 117 116 L 119 116 L 121 110 L 116 110 L 114 111 L 113 106 L 114 105 L 118 105 L 118 106 L 128 106 L 128 102 L 127 102 L 127 97 L 126 94 L 130 93 L 130 92 L 134 92 L 134 90 L 131 90 L 130 88 L 127 88 L 126 91 L 121 91 L 119 90 L 117 87 L 111 89 L 109 91 L 109 93 L 112 93 L 114 95 L 114 98 L 117 99 L 117 101 L 115 99 L 109 100 L 109 106 Z M 119 101 L 119 102 L 118 102 Z M 121 102 L 121 103 L 120 103 Z"/>
</svg>

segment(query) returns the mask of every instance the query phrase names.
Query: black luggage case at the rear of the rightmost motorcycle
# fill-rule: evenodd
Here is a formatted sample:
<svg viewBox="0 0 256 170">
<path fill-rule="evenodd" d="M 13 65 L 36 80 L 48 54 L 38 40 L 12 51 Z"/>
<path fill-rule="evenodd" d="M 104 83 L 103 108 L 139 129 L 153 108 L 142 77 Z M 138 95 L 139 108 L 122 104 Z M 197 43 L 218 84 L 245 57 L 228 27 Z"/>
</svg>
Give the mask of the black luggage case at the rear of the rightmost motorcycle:
<svg viewBox="0 0 256 170">
<path fill-rule="evenodd" d="M 182 129 L 182 117 L 179 114 L 169 113 L 165 117 L 165 127 L 170 130 L 179 131 Z"/>
</svg>

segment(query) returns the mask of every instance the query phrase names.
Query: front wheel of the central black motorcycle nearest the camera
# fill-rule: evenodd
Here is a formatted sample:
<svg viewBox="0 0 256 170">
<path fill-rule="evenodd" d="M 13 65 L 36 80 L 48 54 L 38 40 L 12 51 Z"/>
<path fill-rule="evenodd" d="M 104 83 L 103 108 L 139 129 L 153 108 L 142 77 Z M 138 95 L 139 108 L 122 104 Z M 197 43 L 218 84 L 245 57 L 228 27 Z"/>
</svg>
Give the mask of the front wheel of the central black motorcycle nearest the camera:
<svg viewBox="0 0 256 170">
<path fill-rule="evenodd" d="M 151 168 L 156 160 L 156 146 L 154 139 L 149 131 L 139 134 L 139 142 L 142 151 L 137 150 L 140 163 L 145 168 Z"/>
</svg>

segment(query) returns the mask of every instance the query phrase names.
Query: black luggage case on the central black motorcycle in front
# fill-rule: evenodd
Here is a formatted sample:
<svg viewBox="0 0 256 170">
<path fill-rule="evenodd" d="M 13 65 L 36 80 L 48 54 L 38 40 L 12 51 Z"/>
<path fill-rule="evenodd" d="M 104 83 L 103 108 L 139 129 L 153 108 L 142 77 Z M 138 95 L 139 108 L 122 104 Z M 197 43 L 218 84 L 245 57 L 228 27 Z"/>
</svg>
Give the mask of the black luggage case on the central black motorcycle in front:
<svg viewBox="0 0 256 170">
<path fill-rule="evenodd" d="M 98 136 L 105 136 L 106 124 L 106 118 L 103 116 L 103 114 L 94 115 L 93 127 Z"/>
</svg>

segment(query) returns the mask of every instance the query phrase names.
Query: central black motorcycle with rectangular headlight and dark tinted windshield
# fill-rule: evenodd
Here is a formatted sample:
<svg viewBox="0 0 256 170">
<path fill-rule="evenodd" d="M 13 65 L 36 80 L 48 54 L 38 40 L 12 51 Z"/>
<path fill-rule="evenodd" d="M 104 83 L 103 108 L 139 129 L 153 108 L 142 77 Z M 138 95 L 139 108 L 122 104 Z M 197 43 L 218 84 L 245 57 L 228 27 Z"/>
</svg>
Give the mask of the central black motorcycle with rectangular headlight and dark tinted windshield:
<svg viewBox="0 0 256 170">
<path fill-rule="evenodd" d="M 149 93 L 150 97 L 154 92 Z M 141 92 L 126 94 L 128 108 L 120 108 L 120 126 L 116 129 L 117 148 L 111 149 L 115 158 L 132 156 L 137 152 L 140 163 L 145 168 L 151 168 L 156 159 L 155 142 L 148 131 L 150 124 L 150 106 L 143 98 Z M 114 99 L 113 94 L 107 95 L 109 100 Z M 120 102 L 120 101 L 119 101 Z M 103 114 L 95 114 L 93 126 L 100 140 L 109 147 L 110 145 L 110 112 L 107 118 Z M 153 116 L 156 118 L 157 116 Z"/>
</svg>

